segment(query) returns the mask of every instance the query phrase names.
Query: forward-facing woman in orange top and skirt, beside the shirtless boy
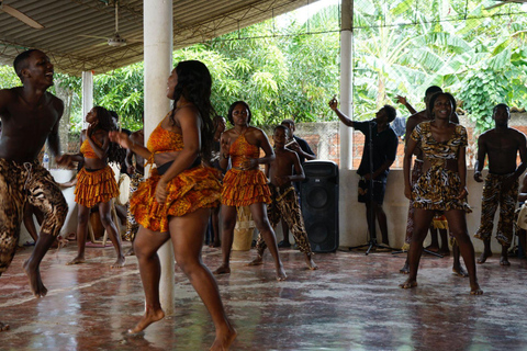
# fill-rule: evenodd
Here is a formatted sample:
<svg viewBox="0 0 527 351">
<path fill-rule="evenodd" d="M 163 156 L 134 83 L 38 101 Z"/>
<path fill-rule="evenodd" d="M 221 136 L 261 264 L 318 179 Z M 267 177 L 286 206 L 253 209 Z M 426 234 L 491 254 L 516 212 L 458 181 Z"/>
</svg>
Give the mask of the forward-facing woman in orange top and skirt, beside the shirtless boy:
<svg viewBox="0 0 527 351">
<path fill-rule="evenodd" d="M 228 109 L 227 118 L 234 128 L 222 134 L 220 166 L 226 169 L 231 159 L 232 168 L 223 179 L 223 263 L 214 273 L 231 273 L 229 258 L 236 225 L 236 207 L 249 206 L 256 227 L 273 258 L 277 280 L 285 280 L 285 271 L 278 254 L 277 237 L 267 218 L 267 204 L 271 203 L 271 192 L 267 185 L 266 176 L 259 169 L 259 165 L 267 165 L 274 160 L 274 152 L 266 134 L 259 128 L 249 126 L 251 114 L 246 102 L 233 103 Z M 260 148 L 266 152 L 261 158 Z"/>
</svg>

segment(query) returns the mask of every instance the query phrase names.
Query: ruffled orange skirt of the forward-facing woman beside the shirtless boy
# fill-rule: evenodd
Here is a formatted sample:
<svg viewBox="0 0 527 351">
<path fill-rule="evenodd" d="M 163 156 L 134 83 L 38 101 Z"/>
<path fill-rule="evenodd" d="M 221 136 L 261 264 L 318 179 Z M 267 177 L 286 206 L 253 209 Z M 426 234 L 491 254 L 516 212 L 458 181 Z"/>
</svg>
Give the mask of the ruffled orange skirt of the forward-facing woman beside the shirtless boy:
<svg viewBox="0 0 527 351">
<path fill-rule="evenodd" d="M 228 170 L 223 178 L 222 204 L 239 207 L 259 202 L 271 203 L 271 192 L 264 172 L 259 169 Z"/>
</svg>

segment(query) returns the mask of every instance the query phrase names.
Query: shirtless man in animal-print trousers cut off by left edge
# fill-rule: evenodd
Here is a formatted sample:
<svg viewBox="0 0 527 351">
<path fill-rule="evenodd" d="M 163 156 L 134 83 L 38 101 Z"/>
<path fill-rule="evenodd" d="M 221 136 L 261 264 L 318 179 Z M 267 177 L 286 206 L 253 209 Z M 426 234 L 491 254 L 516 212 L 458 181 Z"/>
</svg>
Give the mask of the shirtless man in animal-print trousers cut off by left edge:
<svg viewBox="0 0 527 351">
<path fill-rule="evenodd" d="M 54 156 L 60 155 L 58 122 L 63 101 L 46 92 L 53 86 L 53 65 L 41 50 L 27 50 L 14 59 L 22 87 L 0 90 L 0 274 L 16 250 L 24 203 L 44 213 L 41 234 L 33 253 L 24 262 L 30 287 L 36 297 L 47 288 L 41 280 L 40 264 L 63 227 L 68 205 L 49 172 L 37 161 L 48 143 Z M 57 157 L 61 163 L 61 158 Z M 0 324 L 0 329 L 5 325 Z"/>
</svg>

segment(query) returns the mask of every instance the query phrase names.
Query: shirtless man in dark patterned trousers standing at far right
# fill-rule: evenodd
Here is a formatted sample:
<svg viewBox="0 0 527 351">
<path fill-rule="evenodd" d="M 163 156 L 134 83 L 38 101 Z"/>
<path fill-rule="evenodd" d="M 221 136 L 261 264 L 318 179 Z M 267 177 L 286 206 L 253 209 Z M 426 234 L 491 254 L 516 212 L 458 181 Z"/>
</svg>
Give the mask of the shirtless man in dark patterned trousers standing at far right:
<svg viewBox="0 0 527 351">
<path fill-rule="evenodd" d="M 496 231 L 496 239 L 502 245 L 500 264 L 511 265 L 507 250 L 513 239 L 518 179 L 527 168 L 527 146 L 525 135 L 508 127 L 511 111 L 506 104 L 497 104 L 492 118 L 495 127 L 480 135 L 478 139 L 478 160 L 474 167 L 474 180 L 481 183 L 483 182 L 481 171 L 485 163 L 485 156 L 489 157 L 489 174 L 485 178 L 481 199 L 481 224 L 474 235 L 478 239 L 483 240 L 485 246 L 478 263 L 484 263 L 492 256 L 492 227 L 494 214 L 500 204 L 500 222 Z M 522 162 L 516 167 L 518 151 Z"/>
</svg>

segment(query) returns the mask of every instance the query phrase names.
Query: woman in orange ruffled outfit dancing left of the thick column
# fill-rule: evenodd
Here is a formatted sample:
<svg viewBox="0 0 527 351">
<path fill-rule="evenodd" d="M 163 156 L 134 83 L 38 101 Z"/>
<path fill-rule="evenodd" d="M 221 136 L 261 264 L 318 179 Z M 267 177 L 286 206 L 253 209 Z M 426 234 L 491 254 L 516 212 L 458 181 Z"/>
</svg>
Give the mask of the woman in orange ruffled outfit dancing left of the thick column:
<svg viewBox="0 0 527 351">
<path fill-rule="evenodd" d="M 80 152 L 64 155 L 67 162 L 82 162 L 82 168 L 77 173 L 75 188 L 75 202 L 79 204 L 77 224 L 77 257 L 66 264 L 79 264 L 86 262 L 85 248 L 88 234 L 88 220 L 90 208 L 98 206 L 101 224 L 110 236 L 115 248 L 117 259 L 112 268 L 124 265 L 124 254 L 121 247 L 121 236 L 111 216 L 111 201 L 119 196 L 119 188 L 115 174 L 109 161 L 121 159 L 124 150 L 119 145 L 111 143 L 108 133 L 116 129 L 115 122 L 110 112 L 101 106 L 96 106 L 86 115 L 86 122 L 90 125 L 82 134 Z"/>
</svg>

